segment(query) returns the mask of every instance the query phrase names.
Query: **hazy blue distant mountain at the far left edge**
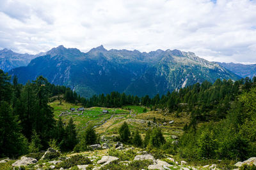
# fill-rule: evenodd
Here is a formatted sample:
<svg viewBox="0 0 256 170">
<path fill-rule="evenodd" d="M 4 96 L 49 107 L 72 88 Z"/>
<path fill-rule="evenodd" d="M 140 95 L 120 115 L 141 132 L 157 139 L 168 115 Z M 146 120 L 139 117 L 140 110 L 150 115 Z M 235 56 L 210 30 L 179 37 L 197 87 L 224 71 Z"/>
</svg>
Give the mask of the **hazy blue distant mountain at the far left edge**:
<svg viewBox="0 0 256 170">
<path fill-rule="evenodd" d="M 4 48 L 3 50 L 0 50 L 0 69 L 9 71 L 15 67 L 27 66 L 31 59 L 34 59 L 35 57 L 35 55 L 15 53 L 12 50 Z"/>
</svg>

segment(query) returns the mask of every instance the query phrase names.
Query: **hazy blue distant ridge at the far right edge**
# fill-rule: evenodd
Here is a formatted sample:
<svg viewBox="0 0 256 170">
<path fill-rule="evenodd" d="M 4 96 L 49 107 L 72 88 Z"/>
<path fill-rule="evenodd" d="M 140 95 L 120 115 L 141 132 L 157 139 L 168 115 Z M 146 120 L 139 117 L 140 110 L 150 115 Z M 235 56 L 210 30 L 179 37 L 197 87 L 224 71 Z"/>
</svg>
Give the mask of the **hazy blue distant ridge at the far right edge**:
<svg viewBox="0 0 256 170">
<path fill-rule="evenodd" d="M 236 64 L 233 62 L 225 63 L 225 62 L 217 62 L 220 64 L 220 66 L 225 67 L 226 69 L 229 69 L 233 73 L 236 73 L 237 75 L 246 78 L 253 78 L 253 76 L 256 76 L 256 64 Z"/>
</svg>

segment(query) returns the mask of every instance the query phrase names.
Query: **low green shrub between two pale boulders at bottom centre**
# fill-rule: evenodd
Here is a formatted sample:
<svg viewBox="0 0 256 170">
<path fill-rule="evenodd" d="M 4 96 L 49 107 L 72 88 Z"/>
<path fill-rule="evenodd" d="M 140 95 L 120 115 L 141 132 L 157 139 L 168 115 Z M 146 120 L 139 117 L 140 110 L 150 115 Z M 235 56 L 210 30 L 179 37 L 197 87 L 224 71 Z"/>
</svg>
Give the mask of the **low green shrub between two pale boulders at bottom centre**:
<svg viewBox="0 0 256 170">
<path fill-rule="evenodd" d="M 119 151 L 115 149 L 110 149 L 108 151 L 109 156 L 118 157 L 120 160 L 133 160 L 136 153 L 132 150 Z"/>
</svg>

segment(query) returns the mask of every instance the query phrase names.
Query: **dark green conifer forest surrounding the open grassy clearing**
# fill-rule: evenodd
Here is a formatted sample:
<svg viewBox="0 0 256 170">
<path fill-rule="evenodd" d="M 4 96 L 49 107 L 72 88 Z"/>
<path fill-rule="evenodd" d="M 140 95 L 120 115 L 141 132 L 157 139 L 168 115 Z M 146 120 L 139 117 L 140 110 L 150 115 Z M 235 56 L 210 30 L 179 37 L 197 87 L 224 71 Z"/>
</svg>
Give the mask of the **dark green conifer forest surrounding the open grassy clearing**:
<svg viewBox="0 0 256 170">
<path fill-rule="evenodd" d="M 115 140 L 145 148 L 154 157 L 172 154 L 191 162 L 207 159 L 237 161 L 252 157 L 256 151 L 255 77 L 253 80 L 204 81 L 152 98 L 111 92 L 88 99 L 77 96 L 67 87 L 51 85 L 42 76 L 26 85 L 17 83 L 17 77 L 12 82 L 10 80 L 7 73 L 0 72 L 1 157 L 39 154 L 49 146 L 62 152 L 81 152 L 100 142 L 101 137 L 96 134 L 93 124 L 78 132 L 72 118 L 66 123 L 61 117 L 54 119 L 49 101 L 56 99 L 60 104 L 63 99 L 69 103 L 81 103 L 86 108 L 143 106 L 143 112 L 158 110 L 159 116 L 164 117 L 163 121 L 168 117 L 177 120 L 181 116 L 188 117 L 188 124 L 183 124 L 180 139 L 175 143 L 164 138 L 160 118 L 154 117 L 152 123 L 148 121 L 148 127 L 152 128 L 147 131 L 132 129 L 131 132 L 129 128 L 132 126 L 126 122 L 119 127 L 119 136 Z M 109 154 L 117 153 L 112 150 Z"/>
</svg>

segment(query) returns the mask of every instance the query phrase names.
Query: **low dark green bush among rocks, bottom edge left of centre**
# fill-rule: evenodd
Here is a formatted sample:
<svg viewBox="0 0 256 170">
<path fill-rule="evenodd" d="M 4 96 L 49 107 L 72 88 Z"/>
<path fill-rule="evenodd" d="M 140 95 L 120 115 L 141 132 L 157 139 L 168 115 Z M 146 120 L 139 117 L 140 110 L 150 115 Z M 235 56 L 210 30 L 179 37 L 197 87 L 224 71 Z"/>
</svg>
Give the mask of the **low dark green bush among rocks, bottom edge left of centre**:
<svg viewBox="0 0 256 170">
<path fill-rule="evenodd" d="M 70 159 L 67 159 L 61 162 L 60 164 L 58 164 L 58 166 L 56 167 L 57 168 L 63 167 L 64 169 L 68 169 L 73 166 L 88 165 L 88 164 L 92 164 L 91 160 L 88 159 L 88 157 L 84 157 L 83 155 L 74 155 L 70 157 Z"/>
</svg>

